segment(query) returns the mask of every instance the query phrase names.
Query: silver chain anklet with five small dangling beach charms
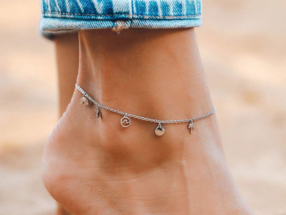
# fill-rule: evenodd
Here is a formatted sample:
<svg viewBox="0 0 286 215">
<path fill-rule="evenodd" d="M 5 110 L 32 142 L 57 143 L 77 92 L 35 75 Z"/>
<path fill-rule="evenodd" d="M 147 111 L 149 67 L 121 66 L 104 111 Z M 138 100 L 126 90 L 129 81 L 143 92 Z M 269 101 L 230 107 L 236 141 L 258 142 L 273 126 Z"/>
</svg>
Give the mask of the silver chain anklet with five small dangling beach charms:
<svg viewBox="0 0 286 215">
<path fill-rule="evenodd" d="M 131 124 L 131 120 L 130 120 L 129 117 L 132 117 L 132 118 L 135 118 L 135 119 L 141 119 L 141 120 L 145 120 L 145 121 L 150 121 L 150 122 L 155 122 L 155 123 L 158 123 L 158 126 L 155 129 L 155 134 L 158 135 L 158 136 L 162 136 L 164 134 L 164 132 L 165 132 L 165 129 L 163 129 L 163 126 L 162 126 L 162 124 L 164 124 L 164 123 L 185 123 L 185 122 L 188 122 L 189 123 L 188 124 L 188 129 L 190 129 L 190 133 L 192 133 L 192 131 L 195 128 L 195 124 L 193 123 L 193 121 L 206 118 L 206 117 L 208 117 L 208 116 L 210 116 L 210 115 L 212 115 L 212 114 L 214 114 L 216 112 L 216 108 L 214 107 L 214 109 L 211 112 L 206 113 L 206 114 L 204 114 L 202 116 L 199 116 L 199 117 L 196 117 L 196 118 L 191 118 L 191 119 L 181 119 L 181 120 L 150 119 L 150 118 L 146 118 L 146 117 L 136 116 L 136 115 L 133 115 L 133 114 L 130 114 L 130 113 L 125 113 L 125 112 L 122 112 L 122 111 L 119 111 L 119 110 L 115 110 L 115 109 L 113 109 L 111 107 L 107 107 L 107 106 L 104 106 L 102 104 L 99 104 L 92 97 L 90 97 L 79 85 L 76 84 L 76 88 L 83 94 L 83 97 L 80 99 L 80 103 L 81 104 L 88 105 L 89 104 L 89 100 L 90 100 L 91 102 L 93 102 L 97 106 L 97 113 L 96 113 L 96 117 L 97 118 L 100 117 L 100 108 L 103 108 L 105 110 L 112 111 L 112 112 L 119 113 L 119 114 L 123 115 L 123 117 L 120 120 L 120 124 L 123 127 L 128 127 Z"/>
</svg>

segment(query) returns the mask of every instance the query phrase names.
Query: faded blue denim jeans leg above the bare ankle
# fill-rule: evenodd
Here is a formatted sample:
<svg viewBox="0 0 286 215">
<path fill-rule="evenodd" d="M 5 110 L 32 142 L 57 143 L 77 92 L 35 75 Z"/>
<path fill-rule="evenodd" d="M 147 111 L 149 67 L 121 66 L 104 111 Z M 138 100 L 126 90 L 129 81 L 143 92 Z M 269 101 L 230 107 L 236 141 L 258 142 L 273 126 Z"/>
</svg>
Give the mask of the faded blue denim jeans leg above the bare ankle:
<svg viewBox="0 0 286 215">
<path fill-rule="evenodd" d="M 200 25 L 200 0 L 42 0 L 42 30 Z"/>
</svg>

